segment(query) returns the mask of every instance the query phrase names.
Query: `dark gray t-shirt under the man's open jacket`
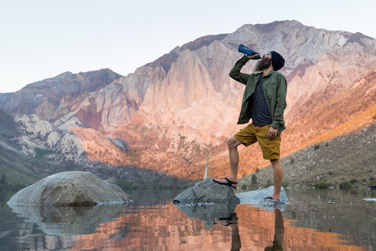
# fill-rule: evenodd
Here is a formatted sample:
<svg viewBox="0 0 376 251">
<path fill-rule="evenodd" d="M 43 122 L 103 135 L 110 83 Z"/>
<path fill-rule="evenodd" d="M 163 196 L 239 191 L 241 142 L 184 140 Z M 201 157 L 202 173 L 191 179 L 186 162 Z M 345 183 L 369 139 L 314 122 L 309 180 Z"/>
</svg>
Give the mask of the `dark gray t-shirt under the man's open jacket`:
<svg viewBox="0 0 376 251">
<path fill-rule="evenodd" d="M 265 126 L 273 122 L 270 116 L 268 104 L 266 103 L 264 90 L 262 88 L 262 77 L 260 77 L 256 84 L 256 90 L 251 96 L 251 103 L 253 125 Z"/>
</svg>

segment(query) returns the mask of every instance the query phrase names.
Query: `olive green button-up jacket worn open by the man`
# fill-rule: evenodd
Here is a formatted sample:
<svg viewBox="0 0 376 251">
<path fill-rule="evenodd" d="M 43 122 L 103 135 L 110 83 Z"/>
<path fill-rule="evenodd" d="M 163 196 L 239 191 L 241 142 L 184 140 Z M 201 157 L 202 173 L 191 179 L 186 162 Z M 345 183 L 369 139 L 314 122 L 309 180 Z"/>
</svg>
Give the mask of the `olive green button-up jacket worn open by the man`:
<svg viewBox="0 0 376 251">
<path fill-rule="evenodd" d="M 248 123 L 252 118 L 251 102 L 247 100 L 256 89 L 256 84 L 259 81 L 262 73 L 246 74 L 241 73 L 241 68 L 248 62 L 247 56 L 244 56 L 236 62 L 235 66 L 230 71 L 230 77 L 236 81 L 246 85 L 243 94 L 243 101 L 241 103 L 240 116 L 238 124 Z M 271 70 L 263 78 L 262 88 L 264 89 L 266 103 L 269 107 L 269 112 L 273 122 L 271 126 L 277 129 L 277 134 L 280 134 L 285 127 L 285 120 L 283 117 L 286 104 L 287 81 L 281 73 Z"/>
</svg>

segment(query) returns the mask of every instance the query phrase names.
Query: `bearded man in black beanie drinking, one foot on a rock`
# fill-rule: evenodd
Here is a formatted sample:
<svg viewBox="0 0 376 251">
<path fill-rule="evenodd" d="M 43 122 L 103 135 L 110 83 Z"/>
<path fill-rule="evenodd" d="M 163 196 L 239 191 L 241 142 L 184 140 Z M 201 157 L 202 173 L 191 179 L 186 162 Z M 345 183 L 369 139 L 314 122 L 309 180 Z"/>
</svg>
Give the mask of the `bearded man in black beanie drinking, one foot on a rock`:
<svg viewBox="0 0 376 251">
<path fill-rule="evenodd" d="M 230 176 L 214 179 L 216 183 L 236 189 L 239 153 L 238 146 L 258 142 L 263 158 L 273 166 L 274 191 L 265 199 L 279 201 L 283 171 L 280 163 L 280 133 L 286 128 L 284 110 L 286 104 L 287 81 L 277 72 L 285 64 L 285 59 L 277 52 L 264 54 L 257 62 L 252 74 L 241 73 L 241 68 L 256 55 L 243 56 L 230 71 L 230 77 L 246 85 L 238 124 L 252 123 L 227 140 L 230 156 Z"/>
</svg>

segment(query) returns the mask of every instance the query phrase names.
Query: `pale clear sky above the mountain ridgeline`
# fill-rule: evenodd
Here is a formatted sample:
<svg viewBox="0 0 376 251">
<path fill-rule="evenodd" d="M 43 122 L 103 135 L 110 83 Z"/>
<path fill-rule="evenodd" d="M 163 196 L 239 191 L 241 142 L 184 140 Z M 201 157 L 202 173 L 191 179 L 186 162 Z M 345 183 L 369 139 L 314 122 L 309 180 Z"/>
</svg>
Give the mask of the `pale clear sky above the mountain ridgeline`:
<svg viewBox="0 0 376 251">
<path fill-rule="evenodd" d="M 243 24 L 297 20 L 376 37 L 374 0 L 0 0 L 0 93 L 65 71 L 126 76 L 176 46 Z"/>
</svg>

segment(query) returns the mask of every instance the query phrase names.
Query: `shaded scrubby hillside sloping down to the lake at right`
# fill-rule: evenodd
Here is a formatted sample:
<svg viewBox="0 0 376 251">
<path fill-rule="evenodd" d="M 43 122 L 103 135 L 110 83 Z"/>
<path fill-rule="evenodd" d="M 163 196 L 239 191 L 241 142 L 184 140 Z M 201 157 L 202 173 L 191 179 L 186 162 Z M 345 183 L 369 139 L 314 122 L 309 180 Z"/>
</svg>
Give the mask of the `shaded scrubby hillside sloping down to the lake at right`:
<svg viewBox="0 0 376 251">
<path fill-rule="evenodd" d="M 316 143 L 281 159 L 283 186 L 368 187 L 376 180 L 376 121 L 356 132 Z M 252 175 L 253 177 L 252 183 Z M 240 187 L 273 183 L 271 165 L 240 180 Z"/>
</svg>

